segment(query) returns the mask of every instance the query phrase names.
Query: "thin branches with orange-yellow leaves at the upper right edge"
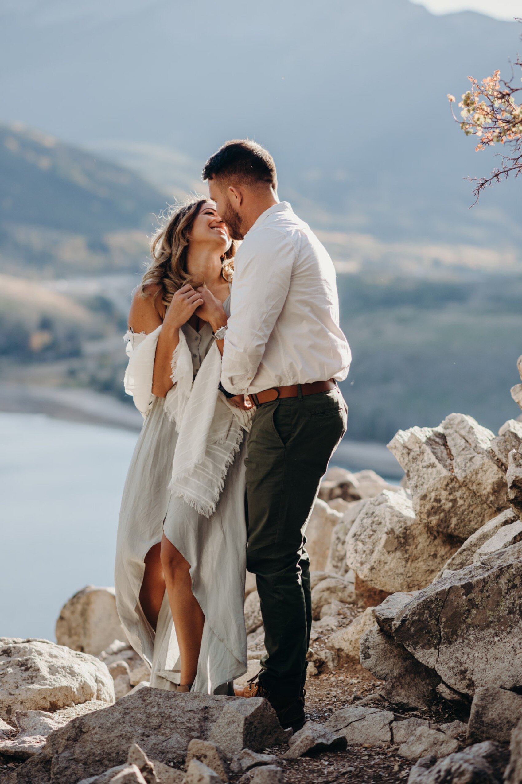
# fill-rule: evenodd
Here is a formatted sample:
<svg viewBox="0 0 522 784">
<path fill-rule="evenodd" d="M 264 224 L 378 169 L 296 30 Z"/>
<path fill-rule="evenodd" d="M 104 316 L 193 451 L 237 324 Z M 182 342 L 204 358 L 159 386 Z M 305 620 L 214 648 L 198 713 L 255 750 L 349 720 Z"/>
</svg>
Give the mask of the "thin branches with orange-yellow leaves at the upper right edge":
<svg viewBox="0 0 522 784">
<path fill-rule="evenodd" d="M 497 143 L 509 148 L 509 153 L 500 154 L 500 165 L 488 177 L 473 177 L 471 180 L 477 183 L 473 189 L 475 204 L 485 187 L 506 180 L 510 174 L 517 177 L 522 172 L 522 104 L 517 103 L 517 93 L 522 92 L 522 86 L 515 86 L 514 68 L 522 69 L 520 59 L 513 64 L 511 78 L 507 82 L 500 78 L 500 71 L 495 71 L 480 83 L 469 76 L 471 89 L 463 93 L 459 103 L 462 120 L 455 117 L 451 107 L 455 122 L 459 123 L 466 136 L 480 138 L 475 147 L 477 152 Z M 448 100 L 455 103 L 455 96 L 448 95 Z"/>
</svg>

